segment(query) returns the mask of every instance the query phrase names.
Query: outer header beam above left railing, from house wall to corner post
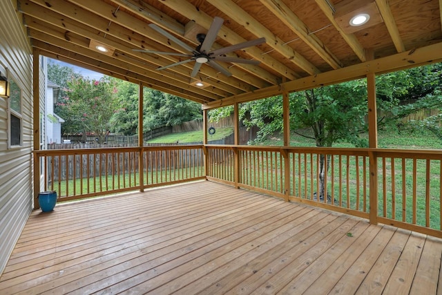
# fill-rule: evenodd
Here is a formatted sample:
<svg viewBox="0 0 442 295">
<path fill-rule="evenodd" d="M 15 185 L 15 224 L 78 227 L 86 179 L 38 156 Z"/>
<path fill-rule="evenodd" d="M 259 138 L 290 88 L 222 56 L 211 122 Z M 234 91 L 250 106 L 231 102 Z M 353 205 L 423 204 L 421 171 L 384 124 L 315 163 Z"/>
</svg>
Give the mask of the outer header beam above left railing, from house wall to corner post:
<svg viewBox="0 0 442 295">
<path fill-rule="evenodd" d="M 103 62 L 91 59 L 90 57 L 84 57 L 77 53 L 73 53 L 70 50 L 66 50 L 63 48 L 58 48 L 57 46 L 53 46 L 45 43 L 44 41 L 40 41 L 37 39 L 32 39 L 33 46 L 35 48 L 39 48 L 45 56 L 50 57 L 52 59 L 58 59 L 61 61 L 66 61 L 70 64 L 75 64 L 81 66 L 83 68 L 88 68 L 89 70 L 102 70 L 106 73 L 106 75 L 111 77 L 116 77 L 122 79 L 124 81 L 132 82 L 138 84 L 142 82 L 149 88 L 156 89 L 158 91 L 163 91 L 164 93 L 170 93 L 172 95 L 176 95 L 178 97 L 182 97 L 185 99 L 192 100 L 193 102 L 203 103 L 206 101 L 205 97 L 200 95 L 195 95 L 192 91 L 186 91 L 185 89 L 179 88 L 177 86 L 173 86 L 166 82 L 158 82 L 153 79 L 148 79 L 142 75 L 138 75 L 128 70 L 123 70 L 121 68 L 117 68 L 110 64 L 104 64 Z"/>
</svg>

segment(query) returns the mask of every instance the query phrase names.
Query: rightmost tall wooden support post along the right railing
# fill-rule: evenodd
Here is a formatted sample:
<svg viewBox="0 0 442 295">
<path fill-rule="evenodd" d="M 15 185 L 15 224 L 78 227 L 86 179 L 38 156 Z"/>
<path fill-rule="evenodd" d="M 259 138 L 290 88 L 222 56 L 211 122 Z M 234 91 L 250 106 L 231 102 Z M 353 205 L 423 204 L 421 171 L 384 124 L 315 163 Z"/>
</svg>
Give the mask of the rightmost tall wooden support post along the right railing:
<svg viewBox="0 0 442 295">
<path fill-rule="evenodd" d="M 374 59 L 373 50 L 367 50 L 367 60 Z M 368 99 L 368 141 L 369 147 L 378 147 L 378 116 L 376 109 L 376 76 L 367 73 L 367 99 Z M 370 223 L 376 225 L 378 220 L 378 159 L 376 153 L 369 152 L 369 191 Z"/>
</svg>

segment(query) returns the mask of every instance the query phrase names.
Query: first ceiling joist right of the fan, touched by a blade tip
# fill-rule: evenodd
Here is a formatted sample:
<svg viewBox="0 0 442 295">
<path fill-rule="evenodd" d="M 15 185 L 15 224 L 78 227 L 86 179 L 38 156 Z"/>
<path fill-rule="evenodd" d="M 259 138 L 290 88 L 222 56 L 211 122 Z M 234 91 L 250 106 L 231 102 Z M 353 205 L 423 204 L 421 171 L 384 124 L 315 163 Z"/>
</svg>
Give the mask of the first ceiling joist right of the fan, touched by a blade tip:
<svg viewBox="0 0 442 295">
<path fill-rule="evenodd" d="M 291 62 L 296 64 L 309 73 L 309 75 L 314 75 L 320 73 L 320 70 L 311 64 L 305 57 L 302 57 L 293 48 L 285 44 L 285 41 L 273 34 L 268 28 L 262 25 L 259 21 L 251 17 L 247 12 L 245 12 L 240 6 L 230 0 L 206 0 L 211 3 L 215 8 L 222 11 L 225 15 L 228 15 L 243 26 L 246 30 L 251 32 L 256 37 L 265 37 L 267 40 L 267 45 L 276 50 L 278 53 L 289 59 Z"/>
</svg>

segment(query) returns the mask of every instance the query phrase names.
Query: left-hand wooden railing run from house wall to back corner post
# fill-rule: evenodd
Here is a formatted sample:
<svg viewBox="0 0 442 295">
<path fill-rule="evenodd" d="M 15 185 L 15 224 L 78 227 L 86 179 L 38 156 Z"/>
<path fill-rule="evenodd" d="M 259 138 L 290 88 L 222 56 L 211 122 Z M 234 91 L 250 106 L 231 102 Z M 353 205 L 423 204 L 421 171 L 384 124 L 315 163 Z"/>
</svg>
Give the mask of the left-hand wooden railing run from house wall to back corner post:
<svg viewBox="0 0 442 295">
<path fill-rule="evenodd" d="M 76 200 L 204 178 L 202 145 L 35 151 L 44 191 Z"/>
</svg>

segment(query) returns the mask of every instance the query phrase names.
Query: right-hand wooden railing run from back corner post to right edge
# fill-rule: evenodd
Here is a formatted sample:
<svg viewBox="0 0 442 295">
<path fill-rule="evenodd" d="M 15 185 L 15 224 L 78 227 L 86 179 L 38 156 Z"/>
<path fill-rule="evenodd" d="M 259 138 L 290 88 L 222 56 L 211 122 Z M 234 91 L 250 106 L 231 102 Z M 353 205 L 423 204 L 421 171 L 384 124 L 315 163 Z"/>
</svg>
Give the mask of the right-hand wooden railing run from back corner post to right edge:
<svg viewBox="0 0 442 295">
<path fill-rule="evenodd" d="M 441 151 L 205 149 L 211 180 L 442 237 Z"/>
</svg>

